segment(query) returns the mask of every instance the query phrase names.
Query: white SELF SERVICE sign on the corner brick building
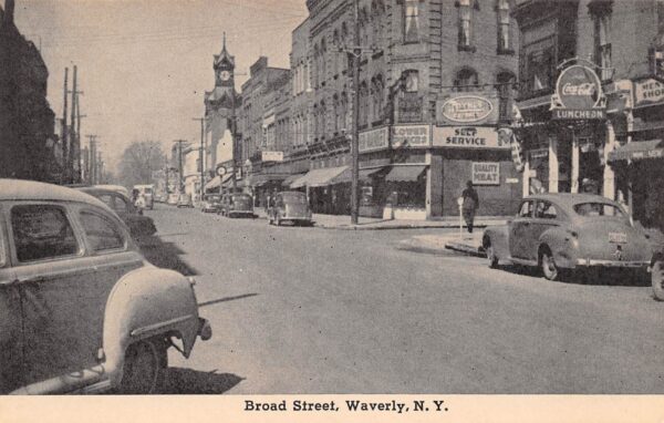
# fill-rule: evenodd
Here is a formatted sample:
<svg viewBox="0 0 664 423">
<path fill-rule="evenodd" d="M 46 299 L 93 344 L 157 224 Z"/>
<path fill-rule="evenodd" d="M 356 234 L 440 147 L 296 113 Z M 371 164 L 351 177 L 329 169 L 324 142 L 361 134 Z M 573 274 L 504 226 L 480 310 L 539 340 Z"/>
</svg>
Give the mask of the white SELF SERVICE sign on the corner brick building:
<svg viewBox="0 0 664 423">
<path fill-rule="evenodd" d="M 488 126 L 435 126 L 434 147 L 509 149 L 509 142 L 498 137 L 495 127 Z"/>
</svg>

